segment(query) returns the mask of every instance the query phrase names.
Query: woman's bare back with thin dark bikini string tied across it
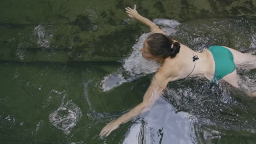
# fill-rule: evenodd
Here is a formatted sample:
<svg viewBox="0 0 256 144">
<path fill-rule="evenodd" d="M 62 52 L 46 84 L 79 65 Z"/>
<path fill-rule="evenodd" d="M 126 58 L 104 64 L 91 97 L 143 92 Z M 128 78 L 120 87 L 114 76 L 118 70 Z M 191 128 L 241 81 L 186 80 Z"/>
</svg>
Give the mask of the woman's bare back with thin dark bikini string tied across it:
<svg viewBox="0 0 256 144">
<path fill-rule="evenodd" d="M 193 56 L 197 56 L 199 59 L 194 62 Z M 209 50 L 204 49 L 201 52 L 196 52 L 182 44 L 177 56 L 166 58 L 162 64 L 162 67 L 170 71 L 170 74 L 178 75 L 176 80 L 188 76 L 206 77 L 208 80 L 212 80 L 214 66 L 214 59 Z"/>
</svg>

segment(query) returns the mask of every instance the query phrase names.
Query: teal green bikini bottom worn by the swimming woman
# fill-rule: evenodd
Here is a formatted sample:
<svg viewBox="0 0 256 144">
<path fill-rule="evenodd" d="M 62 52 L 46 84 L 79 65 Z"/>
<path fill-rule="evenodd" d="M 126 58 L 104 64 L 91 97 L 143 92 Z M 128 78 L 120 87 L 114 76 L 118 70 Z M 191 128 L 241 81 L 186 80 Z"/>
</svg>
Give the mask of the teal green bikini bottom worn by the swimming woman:
<svg viewBox="0 0 256 144">
<path fill-rule="evenodd" d="M 212 52 L 215 61 L 215 73 L 212 83 L 217 82 L 236 69 L 233 55 L 229 49 L 223 46 L 210 46 L 208 50 Z"/>
</svg>

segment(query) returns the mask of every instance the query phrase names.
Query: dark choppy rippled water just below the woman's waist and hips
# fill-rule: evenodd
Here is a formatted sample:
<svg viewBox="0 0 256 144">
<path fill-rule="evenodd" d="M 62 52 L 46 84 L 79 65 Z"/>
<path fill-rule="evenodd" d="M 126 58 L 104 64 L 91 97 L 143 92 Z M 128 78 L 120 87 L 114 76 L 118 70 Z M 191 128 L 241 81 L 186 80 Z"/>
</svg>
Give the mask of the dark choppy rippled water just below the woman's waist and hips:
<svg viewBox="0 0 256 144">
<path fill-rule="evenodd" d="M 179 80 L 172 82 L 172 87 L 166 89 L 165 99 L 178 112 L 196 116 L 200 124 L 255 133 L 254 119 L 247 117 L 247 113 L 254 113 L 249 101 L 245 105 L 240 101 L 241 95 L 230 93 L 228 83 L 220 82 L 219 85 L 207 80 Z"/>
</svg>

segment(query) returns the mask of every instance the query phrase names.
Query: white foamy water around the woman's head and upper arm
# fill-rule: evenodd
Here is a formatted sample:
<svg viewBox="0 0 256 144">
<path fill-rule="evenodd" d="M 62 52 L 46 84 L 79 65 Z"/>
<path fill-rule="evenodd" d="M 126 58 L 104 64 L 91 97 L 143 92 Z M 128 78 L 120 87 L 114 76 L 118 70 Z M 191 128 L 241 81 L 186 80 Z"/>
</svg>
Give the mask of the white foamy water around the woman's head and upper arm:
<svg viewBox="0 0 256 144">
<path fill-rule="evenodd" d="M 180 25 L 179 22 L 167 19 L 155 19 L 154 22 L 157 25 L 161 25 L 161 29 L 166 32 L 167 35 L 173 35 L 176 33 L 175 27 Z M 156 61 L 148 61 L 142 57 L 139 51 L 143 47 L 143 43 L 150 33 L 144 33 L 139 37 L 137 43 L 132 46 L 131 55 L 124 58 L 123 68 L 120 68 L 113 74 L 109 74 L 104 77 L 101 82 L 103 91 L 109 91 L 114 87 L 120 86 L 124 82 L 129 82 L 138 79 L 138 77 L 152 74 L 160 67 L 160 64 Z M 126 73 L 127 76 L 124 76 Z"/>
</svg>

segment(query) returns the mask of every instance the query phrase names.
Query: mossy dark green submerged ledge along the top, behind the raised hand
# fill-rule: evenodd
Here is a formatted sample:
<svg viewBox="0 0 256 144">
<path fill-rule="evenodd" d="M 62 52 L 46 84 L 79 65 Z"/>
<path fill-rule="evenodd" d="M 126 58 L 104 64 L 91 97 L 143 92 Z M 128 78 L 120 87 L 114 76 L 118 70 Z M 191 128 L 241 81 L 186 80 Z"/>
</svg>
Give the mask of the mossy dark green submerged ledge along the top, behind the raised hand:
<svg viewBox="0 0 256 144">
<path fill-rule="evenodd" d="M 124 8 L 133 4 L 150 20 L 256 16 L 252 0 L 3 0 L 0 60 L 117 61 L 131 51 L 141 33 L 149 31 L 126 15 Z"/>
</svg>

